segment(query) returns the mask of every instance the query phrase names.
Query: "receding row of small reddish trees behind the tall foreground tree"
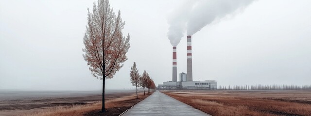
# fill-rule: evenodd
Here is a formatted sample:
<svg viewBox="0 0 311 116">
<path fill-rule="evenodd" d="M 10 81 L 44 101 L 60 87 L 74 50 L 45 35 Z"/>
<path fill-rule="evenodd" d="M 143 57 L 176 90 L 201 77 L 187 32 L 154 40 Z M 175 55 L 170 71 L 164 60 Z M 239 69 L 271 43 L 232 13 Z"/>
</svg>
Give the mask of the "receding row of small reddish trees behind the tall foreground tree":
<svg viewBox="0 0 311 116">
<path fill-rule="evenodd" d="M 149 73 L 144 70 L 142 75 L 139 74 L 138 69 L 136 67 L 136 62 L 134 62 L 133 66 L 131 67 L 130 72 L 131 83 L 132 86 L 136 87 L 136 98 L 138 99 L 138 87 L 142 87 L 144 89 L 145 95 L 145 88 L 148 88 L 148 93 L 151 90 L 155 90 L 155 82 L 150 78 Z"/>
</svg>

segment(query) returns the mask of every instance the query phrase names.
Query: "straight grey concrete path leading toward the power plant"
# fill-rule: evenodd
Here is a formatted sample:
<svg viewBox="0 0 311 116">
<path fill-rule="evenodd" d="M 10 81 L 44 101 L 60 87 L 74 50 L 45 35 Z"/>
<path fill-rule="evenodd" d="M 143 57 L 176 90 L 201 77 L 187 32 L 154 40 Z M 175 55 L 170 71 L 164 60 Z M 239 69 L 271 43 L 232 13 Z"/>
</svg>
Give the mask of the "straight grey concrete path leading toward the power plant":
<svg viewBox="0 0 311 116">
<path fill-rule="evenodd" d="M 179 102 L 164 93 L 155 91 L 137 103 L 122 116 L 208 116 L 192 106 Z"/>
</svg>

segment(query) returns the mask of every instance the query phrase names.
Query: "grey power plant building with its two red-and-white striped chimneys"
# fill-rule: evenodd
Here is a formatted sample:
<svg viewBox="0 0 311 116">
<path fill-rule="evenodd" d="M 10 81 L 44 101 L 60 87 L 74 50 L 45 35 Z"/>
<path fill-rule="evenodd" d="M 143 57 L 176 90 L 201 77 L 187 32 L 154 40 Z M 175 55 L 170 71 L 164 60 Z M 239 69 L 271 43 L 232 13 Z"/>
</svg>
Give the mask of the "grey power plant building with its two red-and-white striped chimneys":
<svg viewBox="0 0 311 116">
<path fill-rule="evenodd" d="M 192 81 L 192 46 L 191 36 L 187 36 L 187 73 L 179 74 L 177 81 L 177 53 L 176 46 L 173 46 L 173 74 L 172 81 L 163 82 L 158 85 L 158 89 L 216 89 L 215 80 Z"/>
</svg>

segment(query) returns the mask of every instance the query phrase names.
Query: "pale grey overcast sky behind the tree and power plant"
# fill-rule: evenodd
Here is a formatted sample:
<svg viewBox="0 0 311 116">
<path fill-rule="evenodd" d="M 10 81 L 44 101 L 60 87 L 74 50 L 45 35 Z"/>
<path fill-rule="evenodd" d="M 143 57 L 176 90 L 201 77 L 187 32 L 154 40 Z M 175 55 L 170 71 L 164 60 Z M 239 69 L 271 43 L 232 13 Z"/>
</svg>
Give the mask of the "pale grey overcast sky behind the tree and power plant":
<svg viewBox="0 0 311 116">
<path fill-rule="evenodd" d="M 92 77 L 82 56 L 93 2 L 0 0 L 0 89 L 100 90 L 102 80 Z M 172 81 L 168 20 L 189 1 L 109 2 L 115 13 L 121 10 L 131 47 L 105 87 L 134 88 L 129 76 L 134 61 L 156 85 Z M 192 35 L 193 80 L 216 80 L 217 86 L 310 85 L 310 6 L 310 0 L 255 0 L 213 20 Z M 205 12 L 196 13 L 191 14 Z M 184 32 L 177 45 L 177 73 L 187 72 L 186 38 Z"/>
</svg>

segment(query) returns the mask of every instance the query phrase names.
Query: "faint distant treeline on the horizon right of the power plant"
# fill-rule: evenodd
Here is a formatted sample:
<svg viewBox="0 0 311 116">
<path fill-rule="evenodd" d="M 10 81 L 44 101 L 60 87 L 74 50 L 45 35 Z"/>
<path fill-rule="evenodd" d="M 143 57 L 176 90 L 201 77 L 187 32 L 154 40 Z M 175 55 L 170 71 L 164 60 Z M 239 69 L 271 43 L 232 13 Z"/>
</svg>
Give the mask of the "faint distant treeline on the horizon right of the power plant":
<svg viewBox="0 0 311 116">
<path fill-rule="evenodd" d="M 219 86 L 220 90 L 311 90 L 311 85 L 245 85 L 245 86 Z"/>
</svg>

